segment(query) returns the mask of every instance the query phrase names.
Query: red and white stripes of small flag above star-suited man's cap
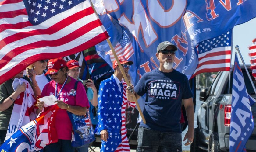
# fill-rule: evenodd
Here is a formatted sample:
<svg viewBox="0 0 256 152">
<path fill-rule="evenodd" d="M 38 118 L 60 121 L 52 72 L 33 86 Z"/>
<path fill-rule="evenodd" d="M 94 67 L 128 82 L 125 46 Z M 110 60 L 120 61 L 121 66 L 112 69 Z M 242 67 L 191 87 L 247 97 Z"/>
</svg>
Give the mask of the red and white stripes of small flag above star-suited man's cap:
<svg viewBox="0 0 256 152">
<path fill-rule="evenodd" d="M 129 58 L 134 54 L 133 45 L 131 42 L 127 43 L 124 48 L 122 48 L 121 44 L 118 42 L 114 49 L 115 49 L 116 55 L 118 57 L 124 56 L 126 58 L 126 60 L 129 60 Z M 105 54 L 110 55 L 110 60 L 112 62 L 115 60 L 115 57 L 111 50 L 108 52 L 105 52 Z"/>
</svg>

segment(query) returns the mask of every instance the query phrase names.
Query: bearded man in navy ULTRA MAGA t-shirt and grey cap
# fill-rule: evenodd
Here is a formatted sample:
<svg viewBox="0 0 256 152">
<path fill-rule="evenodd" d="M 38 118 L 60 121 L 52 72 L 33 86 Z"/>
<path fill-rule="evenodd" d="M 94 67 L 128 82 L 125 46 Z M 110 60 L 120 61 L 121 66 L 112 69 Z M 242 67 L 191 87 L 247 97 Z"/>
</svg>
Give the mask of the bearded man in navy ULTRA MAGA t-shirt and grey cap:
<svg viewBox="0 0 256 152">
<path fill-rule="evenodd" d="M 146 124 L 140 123 L 137 151 L 182 151 L 182 102 L 188 119 L 188 131 L 183 141 L 187 139 L 186 146 L 193 142 L 194 95 L 186 75 L 172 68 L 176 50 L 172 43 L 161 42 L 156 53 L 160 67 L 145 73 L 134 88 L 129 86 L 126 89 L 129 101 L 133 101 L 133 94 L 138 99 L 146 93 L 143 111 Z"/>
</svg>

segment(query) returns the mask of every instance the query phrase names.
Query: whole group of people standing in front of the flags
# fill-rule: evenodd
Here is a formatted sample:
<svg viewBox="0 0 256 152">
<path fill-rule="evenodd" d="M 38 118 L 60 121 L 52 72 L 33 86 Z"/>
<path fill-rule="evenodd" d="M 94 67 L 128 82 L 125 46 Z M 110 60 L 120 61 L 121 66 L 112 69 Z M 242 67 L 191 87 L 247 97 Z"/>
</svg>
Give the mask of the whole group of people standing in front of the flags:
<svg viewBox="0 0 256 152">
<path fill-rule="evenodd" d="M 13 105 L 28 86 L 23 82 L 14 89 L 13 81 L 23 78 L 33 88 L 34 97 L 55 95 L 58 99 L 55 101 L 59 107 L 55 119 L 58 142 L 46 145 L 45 152 L 74 151 L 72 123 L 67 112 L 84 116 L 96 106 L 98 124 L 94 132 L 101 137 L 101 151 L 130 151 L 126 136 L 126 105 L 135 107 L 133 96 L 139 99 L 145 94 L 143 115 L 146 123 L 141 122 L 139 126 L 137 151 L 182 151 L 180 122 L 184 122 L 184 118 L 181 105 L 185 106 L 188 119 L 185 145 L 193 142 L 194 105 L 186 75 L 172 68 L 176 50 L 177 47 L 168 41 L 160 43 L 156 52 L 159 68 L 144 74 L 135 87 L 127 86 L 115 60 L 112 65 L 114 74 L 101 81 L 98 91 L 91 79 L 78 78 L 82 67 L 76 60 L 66 62 L 59 57 L 31 64 L 26 68 L 27 74 L 21 71 L 0 85 L 0 145 L 10 131 Z M 133 62 L 123 56 L 119 57 L 119 62 L 130 79 L 128 71 Z M 33 108 L 36 115 L 49 109 L 44 106 L 44 101 L 36 102 Z M 88 147 L 89 143 L 76 147 L 76 150 L 86 152 Z"/>
</svg>

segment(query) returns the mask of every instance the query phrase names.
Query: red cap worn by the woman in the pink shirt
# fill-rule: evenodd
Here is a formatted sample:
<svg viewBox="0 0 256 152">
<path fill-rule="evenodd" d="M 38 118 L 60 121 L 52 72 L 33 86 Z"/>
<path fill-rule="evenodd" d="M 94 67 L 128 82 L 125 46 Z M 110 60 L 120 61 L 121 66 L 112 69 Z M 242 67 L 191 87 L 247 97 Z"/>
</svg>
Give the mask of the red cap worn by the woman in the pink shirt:
<svg viewBox="0 0 256 152">
<path fill-rule="evenodd" d="M 56 72 L 59 71 L 60 68 L 62 67 L 66 67 L 66 61 L 63 60 L 61 57 L 57 58 L 57 59 L 51 59 L 48 61 L 47 67 L 48 67 L 48 71 L 44 74 L 55 74 Z"/>
</svg>

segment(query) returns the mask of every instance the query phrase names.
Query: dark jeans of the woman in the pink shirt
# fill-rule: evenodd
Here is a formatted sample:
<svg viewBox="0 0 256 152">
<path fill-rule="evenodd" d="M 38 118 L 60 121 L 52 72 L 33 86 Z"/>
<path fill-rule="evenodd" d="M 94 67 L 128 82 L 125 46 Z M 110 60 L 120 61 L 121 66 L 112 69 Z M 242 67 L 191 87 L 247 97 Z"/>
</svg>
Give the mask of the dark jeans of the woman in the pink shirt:
<svg viewBox="0 0 256 152">
<path fill-rule="evenodd" d="M 59 139 L 57 143 L 51 143 L 44 147 L 44 152 L 74 152 L 71 140 Z"/>
</svg>

